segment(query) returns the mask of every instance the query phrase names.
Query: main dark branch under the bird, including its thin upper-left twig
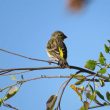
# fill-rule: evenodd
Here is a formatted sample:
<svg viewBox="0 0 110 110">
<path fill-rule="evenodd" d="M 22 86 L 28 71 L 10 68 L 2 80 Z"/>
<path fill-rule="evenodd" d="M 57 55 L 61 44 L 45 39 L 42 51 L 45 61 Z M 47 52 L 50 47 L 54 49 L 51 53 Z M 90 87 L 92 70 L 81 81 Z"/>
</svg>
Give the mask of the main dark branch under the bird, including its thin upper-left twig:
<svg viewBox="0 0 110 110">
<path fill-rule="evenodd" d="M 15 55 L 15 56 L 19 56 L 19 57 L 22 57 L 22 58 L 25 58 L 25 59 L 29 59 L 29 60 L 35 60 L 35 61 L 41 61 L 41 62 L 47 62 L 47 63 L 54 63 L 54 64 L 58 64 L 56 62 L 52 62 L 52 61 L 47 61 L 47 60 L 41 60 L 41 59 L 36 59 L 36 58 L 30 58 L 30 57 L 27 57 L 27 56 L 24 56 L 24 55 L 20 55 L 20 54 L 17 54 L 17 53 L 14 53 L 14 52 L 10 52 L 10 51 L 7 51 L 5 49 L 0 49 L 0 51 L 2 52 L 6 52 L 6 53 L 9 53 L 9 54 L 12 54 L 12 55 Z M 82 72 L 86 72 L 88 74 L 96 74 L 95 72 L 93 71 L 90 71 L 90 70 L 87 70 L 87 69 L 84 69 L 84 68 L 80 68 L 80 67 L 77 67 L 77 66 L 69 66 L 70 69 L 76 69 L 76 70 L 80 70 Z M 41 67 L 41 68 L 16 68 L 16 69 L 5 69 L 5 70 L 1 70 L 0 71 L 0 75 L 2 74 L 6 74 L 6 73 L 9 73 L 11 71 L 15 71 L 15 70 L 43 70 L 43 69 L 56 69 L 56 68 L 61 68 L 61 67 Z M 105 76 L 102 76 L 102 75 L 99 75 L 97 74 L 98 77 L 101 77 L 101 78 L 104 78 L 104 79 L 108 79 L 108 77 L 105 77 Z"/>
</svg>

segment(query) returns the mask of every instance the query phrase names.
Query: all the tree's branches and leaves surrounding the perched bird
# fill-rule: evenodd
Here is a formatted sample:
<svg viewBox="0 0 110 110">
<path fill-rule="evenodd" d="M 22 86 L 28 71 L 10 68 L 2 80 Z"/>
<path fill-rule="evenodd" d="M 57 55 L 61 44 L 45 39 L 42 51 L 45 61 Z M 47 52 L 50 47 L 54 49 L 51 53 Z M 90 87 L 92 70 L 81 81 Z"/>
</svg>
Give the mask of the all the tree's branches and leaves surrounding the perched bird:
<svg viewBox="0 0 110 110">
<path fill-rule="evenodd" d="M 0 51 L 12 55 L 16 55 L 22 58 L 26 58 L 29 60 L 57 64 L 56 62 L 29 58 L 23 55 L 9 52 L 4 49 L 0 49 Z M 46 102 L 47 110 L 61 110 L 62 96 L 65 88 L 68 86 L 71 80 L 76 80 L 74 84 L 70 84 L 70 88 L 73 90 L 73 92 L 75 92 L 78 95 L 80 101 L 82 102 L 82 106 L 80 107 L 80 110 L 88 110 L 98 107 L 110 106 L 110 91 L 105 91 L 105 94 L 101 93 L 100 91 L 100 88 L 104 88 L 106 83 L 110 82 L 110 74 L 109 74 L 110 63 L 108 59 L 108 56 L 110 55 L 110 40 L 108 40 L 108 44 L 104 44 L 104 51 L 105 52 L 103 53 L 102 52 L 99 53 L 97 60 L 90 59 L 86 61 L 84 65 L 85 68 L 70 65 L 70 68 L 68 69 L 75 69 L 77 70 L 77 72 L 74 74 L 70 74 L 69 76 L 40 76 L 30 79 L 24 79 L 23 75 L 21 75 L 21 80 L 17 80 L 16 76 L 21 73 L 23 74 L 25 72 L 30 72 L 30 71 L 37 71 L 37 70 L 40 71 L 46 69 L 64 69 L 64 68 L 61 68 L 59 66 L 54 66 L 54 67 L 49 66 L 49 67 L 38 67 L 38 68 L 1 69 L 0 70 L 1 77 L 4 75 L 5 76 L 16 75 L 12 77 L 12 79 L 15 80 L 16 83 L 0 89 L 1 93 L 5 92 L 5 95 L 2 98 L 0 98 L 0 106 L 6 106 L 8 108 L 18 110 L 16 107 L 7 104 L 6 103 L 7 100 L 10 100 L 10 98 L 14 97 L 19 92 L 19 89 L 21 89 L 24 83 L 42 78 L 67 79 L 58 90 L 60 91 L 60 93 L 58 92 L 56 94 L 50 95 L 49 99 Z M 20 71 L 20 72 L 11 73 L 13 71 Z"/>
</svg>

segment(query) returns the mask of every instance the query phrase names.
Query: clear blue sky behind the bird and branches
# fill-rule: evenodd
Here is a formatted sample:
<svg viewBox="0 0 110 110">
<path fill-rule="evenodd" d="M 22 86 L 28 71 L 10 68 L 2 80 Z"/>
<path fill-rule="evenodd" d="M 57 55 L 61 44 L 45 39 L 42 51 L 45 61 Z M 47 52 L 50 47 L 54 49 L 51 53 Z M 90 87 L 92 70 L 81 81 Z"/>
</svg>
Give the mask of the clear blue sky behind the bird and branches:
<svg viewBox="0 0 110 110">
<path fill-rule="evenodd" d="M 98 59 L 99 52 L 104 51 L 103 44 L 110 39 L 110 0 L 93 0 L 83 11 L 75 14 L 67 10 L 65 3 L 65 0 L 0 0 L 0 48 L 48 60 L 46 43 L 52 32 L 60 30 L 68 36 L 65 43 L 69 64 L 83 67 L 86 60 Z M 0 62 L 0 68 L 48 66 L 46 63 L 29 61 L 2 52 Z M 43 70 L 24 74 L 24 78 L 74 72 Z M 0 80 L 0 87 L 14 82 L 10 77 L 2 77 Z M 28 82 L 7 102 L 20 110 L 44 110 L 48 97 L 57 93 L 63 81 L 65 79 Z M 77 95 L 67 87 L 62 110 L 78 110 L 79 106 L 81 103 Z M 1 109 L 6 110 L 4 107 Z"/>
</svg>

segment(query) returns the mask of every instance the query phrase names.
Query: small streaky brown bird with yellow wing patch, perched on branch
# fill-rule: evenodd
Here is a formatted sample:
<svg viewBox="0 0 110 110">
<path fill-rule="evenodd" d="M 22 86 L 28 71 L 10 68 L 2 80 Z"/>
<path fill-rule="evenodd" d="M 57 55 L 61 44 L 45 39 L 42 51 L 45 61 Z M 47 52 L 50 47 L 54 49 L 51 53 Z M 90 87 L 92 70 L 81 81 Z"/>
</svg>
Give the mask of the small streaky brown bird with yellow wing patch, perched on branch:
<svg viewBox="0 0 110 110">
<path fill-rule="evenodd" d="M 52 61 L 58 62 L 62 68 L 68 67 L 67 47 L 64 43 L 66 38 L 67 36 L 62 31 L 55 31 L 47 43 L 47 55 Z"/>
</svg>

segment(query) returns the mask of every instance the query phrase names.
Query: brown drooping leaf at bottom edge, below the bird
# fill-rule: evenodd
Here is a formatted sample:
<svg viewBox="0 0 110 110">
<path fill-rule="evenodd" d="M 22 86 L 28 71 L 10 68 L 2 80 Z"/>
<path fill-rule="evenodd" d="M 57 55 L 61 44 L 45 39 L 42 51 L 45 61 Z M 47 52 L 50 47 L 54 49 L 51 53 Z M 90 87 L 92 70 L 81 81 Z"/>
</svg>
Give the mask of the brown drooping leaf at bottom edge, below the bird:
<svg viewBox="0 0 110 110">
<path fill-rule="evenodd" d="M 53 110 L 56 100 L 57 100 L 57 96 L 51 95 L 46 103 L 47 106 L 46 110 Z"/>
</svg>

